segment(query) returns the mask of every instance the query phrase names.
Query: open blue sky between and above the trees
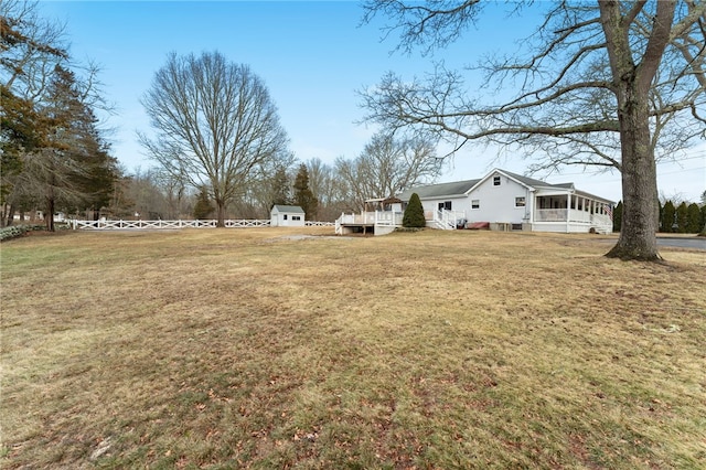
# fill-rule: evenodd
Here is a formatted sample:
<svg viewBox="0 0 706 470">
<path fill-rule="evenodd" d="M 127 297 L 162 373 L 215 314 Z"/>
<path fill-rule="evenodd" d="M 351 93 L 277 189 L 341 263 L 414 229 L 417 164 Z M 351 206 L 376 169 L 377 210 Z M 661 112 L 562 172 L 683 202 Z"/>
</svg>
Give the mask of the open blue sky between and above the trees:
<svg viewBox="0 0 706 470">
<path fill-rule="evenodd" d="M 328 163 L 357 157 L 375 131 L 356 124 L 365 114 L 356 90 L 375 85 L 387 71 L 411 79 L 431 70 L 430 57 L 392 53 L 396 39 L 381 42 L 379 23 L 361 25 L 363 12 L 354 1 L 43 1 L 41 9 L 66 23 L 77 61 L 101 65 L 106 96 L 117 106 L 108 121 L 116 129 L 113 153 L 129 171 L 152 164 L 137 143 L 136 131 L 150 129 L 139 99 L 170 52 L 217 50 L 249 65 L 269 88 L 297 158 Z M 475 30 L 434 58 L 451 66 L 474 63 L 481 54 L 512 50 L 532 31 L 533 17 L 485 13 Z M 528 164 L 496 157 L 492 149 L 467 146 L 439 181 L 481 178 L 493 167 L 523 173 Z M 662 194 L 698 201 L 706 189 L 706 145 L 681 164 L 659 165 L 657 173 Z M 618 173 L 568 169 L 546 180 L 573 181 L 584 191 L 621 199 Z"/>
</svg>

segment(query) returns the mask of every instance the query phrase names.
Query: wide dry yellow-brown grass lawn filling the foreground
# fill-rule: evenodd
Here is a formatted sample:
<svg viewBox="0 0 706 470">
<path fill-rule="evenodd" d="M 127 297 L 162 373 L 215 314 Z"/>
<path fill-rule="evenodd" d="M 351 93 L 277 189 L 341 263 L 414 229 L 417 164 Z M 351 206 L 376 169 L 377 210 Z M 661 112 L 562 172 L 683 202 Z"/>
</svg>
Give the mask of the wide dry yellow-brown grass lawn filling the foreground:
<svg viewBox="0 0 706 470">
<path fill-rule="evenodd" d="M 302 233 L 2 244 L 0 466 L 706 468 L 706 253 Z"/>
</svg>

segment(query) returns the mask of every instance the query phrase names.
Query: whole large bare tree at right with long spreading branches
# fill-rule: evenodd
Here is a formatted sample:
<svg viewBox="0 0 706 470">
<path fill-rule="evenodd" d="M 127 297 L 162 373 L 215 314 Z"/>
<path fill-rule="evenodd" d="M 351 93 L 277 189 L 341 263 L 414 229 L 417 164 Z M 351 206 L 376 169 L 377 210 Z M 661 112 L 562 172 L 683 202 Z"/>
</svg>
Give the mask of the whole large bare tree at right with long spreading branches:
<svg viewBox="0 0 706 470">
<path fill-rule="evenodd" d="M 523 3 L 515 3 L 517 9 Z M 426 81 L 386 75 L 364 94 L 368 119 L 392 129 L 415 128 L 450 138 L 457 148 L 485 140 L 550 152 L 550 165 L 598 164 L 620 169 L 623 218 L 618 244 L 607 254 L 659 260 L 655 149 L 687 145 L 704 132 L 706 4 L 702 1 L 599 1 L 539 3 L 545 20 L 527 41 L 532 50 L 493 61 L 488 78 L 516 86 L 506 103 L 469 97 L 461 74 L 439 66 Z M 396 0 L 366 3 L 394 19 L 400 47 L 443 47 L 478 20 L 478 0 L 425 4 Z M 672 127 L 670 127 L 670 124 Z M 670 133 L 680 129 L 683 133 Z M 619 145 L 620 153 L 612 151 Z M 676 146 L 676 147 L 675 147 Z M 552 153 L 556 158 L 552 158 Z"/>
</svg>

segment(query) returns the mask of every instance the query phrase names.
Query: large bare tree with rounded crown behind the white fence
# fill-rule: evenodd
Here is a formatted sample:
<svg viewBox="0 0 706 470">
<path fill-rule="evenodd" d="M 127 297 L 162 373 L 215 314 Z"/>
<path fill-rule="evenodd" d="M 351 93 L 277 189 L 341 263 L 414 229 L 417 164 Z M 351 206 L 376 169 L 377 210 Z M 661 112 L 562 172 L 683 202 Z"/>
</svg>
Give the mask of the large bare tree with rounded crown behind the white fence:
<svg viewBox="0 0 706 470">
<path fill-rule="evenodd" d="M 140 135 L 164 169 L 213 191 L 217 226 L 261 168 L 286 154 L 287 136 L 263 81 L 217 53 L 178 56 L 154 75 L 142 105 L 157 131 Z"/>
</svg>

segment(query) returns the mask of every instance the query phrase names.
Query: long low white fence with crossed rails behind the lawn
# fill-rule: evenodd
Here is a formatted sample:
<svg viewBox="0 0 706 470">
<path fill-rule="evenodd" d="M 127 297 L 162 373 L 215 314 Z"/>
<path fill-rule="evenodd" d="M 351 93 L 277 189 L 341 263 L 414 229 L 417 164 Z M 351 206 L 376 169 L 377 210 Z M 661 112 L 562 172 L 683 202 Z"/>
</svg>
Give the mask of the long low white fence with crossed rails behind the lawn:
<svg viewBox="0 0 706 470">
<path fill-rule="evenodd" d="M 68 221 L 75 231 L 215 228 L 216 221 Z M 307 221 L 307 226 L 333 226 L 333 222 Z M 227 228 L 268 227 L 267 220 L 227 220 Z"/>
</svg>

